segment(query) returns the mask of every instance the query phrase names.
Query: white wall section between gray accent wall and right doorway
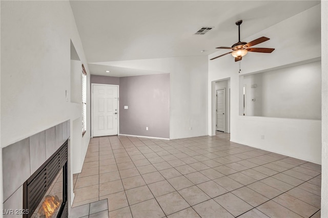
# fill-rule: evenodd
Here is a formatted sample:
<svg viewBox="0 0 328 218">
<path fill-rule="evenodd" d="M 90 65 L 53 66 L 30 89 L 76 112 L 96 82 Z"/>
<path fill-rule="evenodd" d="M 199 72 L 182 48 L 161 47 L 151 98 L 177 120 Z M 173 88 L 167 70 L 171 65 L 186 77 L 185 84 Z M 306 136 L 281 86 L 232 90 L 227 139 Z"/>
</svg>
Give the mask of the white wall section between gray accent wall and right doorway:
<svg viewBox="0 0 328 218">
<path fill-rule="evenodd" d="M 170 139 L 207 135 L 206 56 L 112 61 L 102 64 L 170 73 Z"/>
</svg>

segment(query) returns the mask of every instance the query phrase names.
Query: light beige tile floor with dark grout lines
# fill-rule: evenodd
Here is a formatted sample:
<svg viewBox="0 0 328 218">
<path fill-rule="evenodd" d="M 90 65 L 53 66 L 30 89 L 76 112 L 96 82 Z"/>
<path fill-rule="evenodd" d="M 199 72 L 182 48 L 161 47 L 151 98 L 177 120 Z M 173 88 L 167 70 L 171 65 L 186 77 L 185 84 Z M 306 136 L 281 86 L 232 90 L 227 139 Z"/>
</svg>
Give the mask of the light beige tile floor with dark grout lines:
<svg viewBox="0 0 328 218">
<path fill-rule="evenodd" d="M 72 211 L 89 207 L 90 218 L 320 217 L 320 165 L 233 143 L 223 133 L 92 138 L 73 178 Z M 107 207 L 91 213 L 99 200 Z"/>
</svg>

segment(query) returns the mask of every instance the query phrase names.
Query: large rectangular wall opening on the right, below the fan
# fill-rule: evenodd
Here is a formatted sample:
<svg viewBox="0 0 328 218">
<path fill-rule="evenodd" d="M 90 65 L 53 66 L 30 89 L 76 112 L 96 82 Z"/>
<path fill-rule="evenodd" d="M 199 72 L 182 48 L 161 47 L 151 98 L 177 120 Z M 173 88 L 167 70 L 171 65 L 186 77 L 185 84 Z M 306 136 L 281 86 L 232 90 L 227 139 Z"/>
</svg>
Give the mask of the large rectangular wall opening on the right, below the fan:
<svg viewBox="0 0 328 218">
<path fill-rule="evenodd" d="M 321 61 L 240 75 L 239 115 L 321 120 Z"/>
</svg>

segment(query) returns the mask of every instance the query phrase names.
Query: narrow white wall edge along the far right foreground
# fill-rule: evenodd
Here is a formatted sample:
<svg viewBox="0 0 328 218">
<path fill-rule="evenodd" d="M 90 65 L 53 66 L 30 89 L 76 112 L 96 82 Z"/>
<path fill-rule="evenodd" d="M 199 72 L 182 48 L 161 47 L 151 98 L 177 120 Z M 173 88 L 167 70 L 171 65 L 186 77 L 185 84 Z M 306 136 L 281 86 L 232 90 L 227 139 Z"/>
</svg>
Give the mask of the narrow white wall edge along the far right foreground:
<svg viewBox="0 0 328 218">
<path fill-rule="evenodd" d="M 328 217 L 328 1 L 321 1 L 322 159 L 321 217 Z"/>
</svg>

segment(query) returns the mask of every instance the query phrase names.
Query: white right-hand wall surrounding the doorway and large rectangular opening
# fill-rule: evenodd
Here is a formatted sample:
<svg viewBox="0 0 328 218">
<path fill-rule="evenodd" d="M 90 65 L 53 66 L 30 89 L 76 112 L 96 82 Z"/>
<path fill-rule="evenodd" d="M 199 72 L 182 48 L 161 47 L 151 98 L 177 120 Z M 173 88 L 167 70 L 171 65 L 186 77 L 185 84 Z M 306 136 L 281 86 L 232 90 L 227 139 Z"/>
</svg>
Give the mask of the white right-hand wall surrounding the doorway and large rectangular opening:
<svg viewBox="0 0 328 218">
<path fill-rule="evenodd" d="M 231 78 L 231 141 L 321 163 L 321 121 L 239 116 L 239 75 L 319 58 L 320 29 L 318 5 L 242 39 L 251 41 L 267 36 L 271 39 L 260 47 L 276 50 L 271 54 L 247 54 L 241 61 L 240 74 L 238 62 L 230 55 L 209 60 L 209 108 L 214 103 L 212 81 Z M 209 58 L 223 52 L 218 51 Z M 209 114 L 212 112 L 209 111 Z M 212 117 L 209 117 L 209 135 L 214 135 L 214 127 Z M 264 139 L 261 139 L 261 135 L 264 135 Z"/>
</svg>

